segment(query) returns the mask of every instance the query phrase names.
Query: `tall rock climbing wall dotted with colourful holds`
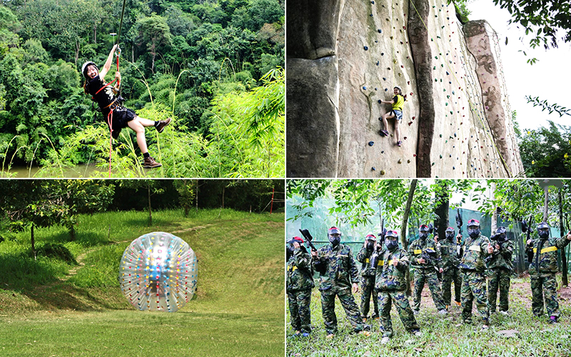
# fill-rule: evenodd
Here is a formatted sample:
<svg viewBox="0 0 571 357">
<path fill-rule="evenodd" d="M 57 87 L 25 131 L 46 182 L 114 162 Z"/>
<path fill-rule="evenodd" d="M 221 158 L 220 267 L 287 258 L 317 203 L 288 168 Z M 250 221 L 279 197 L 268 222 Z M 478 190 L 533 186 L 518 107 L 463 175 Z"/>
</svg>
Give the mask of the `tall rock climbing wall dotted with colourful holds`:
<svg viewBox="0 0 571 357">
<path fill-rule="evenodd" d="M 416 24 L 428 29 L 425 53 L 430 58 L 421 60 L 431 73 L 425 73 L 430 82 L 420 86 L 409 36 L 422 35 L 408 28 L 411 13 L 418 14 L 415 2 L 329 1 L 325 5 L 334 9 L 322 7 L 318 14 L 303 4 L 288 0 L 288 177 L 521 175 L 497 36 L 485 21 L 462 26 L 453 5 L 425 3 L 428 16 Z M 314 16 L 321 20 L 312 22 Z M 290 31 L 292 18 L 297 24 Z M 336 39 L 334 45 L 308 44 L 308 38 L 323 38 L 315 34 L 325 29 L 332 35 L 329 42 Z M 300 44 L 305 51 L 298 50 Z M 317 74 L 320 67 L 326 75 Z M 390 110 L 379 101 L 390 100 L 395 85 L 408 97 L 400 123 L 401 147 L 395 146 L 394 120 L 389 120 L 391 136 L 378 134 L 379 118 Z M 421 103 L 427 93 L 432 103 Z M 419 125 L 428 105 L 434 114 L 431 133 Z M 420 150 L 426 153 L 420 155 L 427 161 L 422 163 L 425 169 L 418 169 Z"/>
</svg>

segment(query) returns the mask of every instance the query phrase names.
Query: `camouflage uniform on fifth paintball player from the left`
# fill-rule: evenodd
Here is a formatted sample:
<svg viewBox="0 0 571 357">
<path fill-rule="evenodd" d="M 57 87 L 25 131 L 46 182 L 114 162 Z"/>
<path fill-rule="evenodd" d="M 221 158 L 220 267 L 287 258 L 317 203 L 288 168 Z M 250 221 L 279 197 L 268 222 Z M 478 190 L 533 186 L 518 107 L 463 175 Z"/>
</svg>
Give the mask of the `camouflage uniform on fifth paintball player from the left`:
<svg viewBox="0 0 571 357">
<path fill-rule="evenodd" d="M 426 263 L 418 263 L 418 259 L 421 258 L 421 254 L 425 251 L 434 256 L 434 260 L 426 261 Z M 428 282 L 428 288 L 430 288 L 430 295 L 433 297 L 434 304 L 438 311 L 445 310 L 446 306 L 442 299 L 442 293 L 440 292 L 440 281 L 438 281 L 438 274 L 435 268 L 440 270 L 440 250 L 436 246 L 433 239 L 417 239 L 410 243 L 408 247 L 408 256 L 410 259 L 410 264 L 415 268 L 415 292 L 414 292 L 414 305 L 413 309 L 415 311 L 420 310 L 420 294 L 423 292 L 425 281 Z"/>
</svg>

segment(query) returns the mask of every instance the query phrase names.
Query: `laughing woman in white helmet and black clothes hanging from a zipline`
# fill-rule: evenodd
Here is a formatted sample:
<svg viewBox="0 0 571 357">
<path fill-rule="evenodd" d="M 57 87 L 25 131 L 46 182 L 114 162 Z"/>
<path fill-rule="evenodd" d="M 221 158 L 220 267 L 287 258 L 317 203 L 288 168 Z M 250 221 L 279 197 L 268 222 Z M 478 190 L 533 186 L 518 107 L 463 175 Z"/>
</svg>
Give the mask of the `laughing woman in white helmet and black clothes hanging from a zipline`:
<svg viewBox="0 0 571 357">
<path fill-rule="evenodd" d="M 116 49 L 117 45 L 114 45 L 101 72 L 92 61 L 87 61 L 81 66 L 81 73 L 86 79 L 84 84 L 85 93 L 91 94 L 92 99 L 99 105 L 103 113 L 103 118 L 108 122 L 108 125 L 111 126 L 111 136 L 113 136 L 114 139 L 118 138 L 121 129 L 127 126 L 133 129 L 137 135 L 138 148 L 141 149 L 141 153 L 143 154 L 143 167 L 146 169 L 160 167 L 162 164 L 156 162 L 155 159 L 148 154 L 145 127 L 154 126 L 159 133 L 162 133 L 165 126 L 171 123 L 171 118 L 161 121 L 151 121 L 141 118 L 135 114 L 134 111 L 123 106 L 123 99 L 121 96 L 118 96 L 119 86 L 121 85 L 121 74 L 118 71 L 115 72 L 117 83 L 114 86 L 109 86 L 105 81 L 105 76 L 111 69 L 113 52 L 115 52 Z M 109 122 L 111 122 L 111 124 Z"/>
</svg>

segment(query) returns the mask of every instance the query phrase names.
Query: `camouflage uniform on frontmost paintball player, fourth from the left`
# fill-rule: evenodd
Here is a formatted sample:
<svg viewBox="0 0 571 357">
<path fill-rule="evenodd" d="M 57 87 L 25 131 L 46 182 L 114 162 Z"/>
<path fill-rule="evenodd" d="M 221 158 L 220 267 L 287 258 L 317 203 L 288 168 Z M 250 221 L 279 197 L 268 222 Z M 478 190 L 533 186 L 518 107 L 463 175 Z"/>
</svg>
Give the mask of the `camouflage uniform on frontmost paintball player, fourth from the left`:
<svg viewBox="0 0 571 357">
<path fill-rule="evenodd" d="M 393 266 L 393 259 L 398 259 L 398 265 Z M 380 307 L 380 331 L 383 337 L 393 336 L 393 322 L 390 320 L 392 301 L 400 316 L 400 321 L 407 331 L 418 331 L 413 310 L 406 296 L 406 274 L 408 274 L 408 255 L 404 249 L 394 252 L 383 251 L 379 256 L 375 288 L 378 291 Z"/>
</svg>

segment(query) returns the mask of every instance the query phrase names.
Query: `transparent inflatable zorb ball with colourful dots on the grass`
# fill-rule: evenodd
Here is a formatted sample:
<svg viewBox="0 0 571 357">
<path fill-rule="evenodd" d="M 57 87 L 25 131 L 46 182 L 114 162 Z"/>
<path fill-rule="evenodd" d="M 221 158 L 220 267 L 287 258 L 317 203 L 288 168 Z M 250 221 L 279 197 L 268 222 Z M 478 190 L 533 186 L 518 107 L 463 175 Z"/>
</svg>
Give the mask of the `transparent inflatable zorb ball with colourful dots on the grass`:
<svg viewBox="0 0 571 357">
<path fill-rule="evenodd" d="M 125 249 L 119 266 L 121 291 L 139 310 L 175 312 L 193 297 L 197 259 L 177 236 L 153 232 Z"/>
</svg>

